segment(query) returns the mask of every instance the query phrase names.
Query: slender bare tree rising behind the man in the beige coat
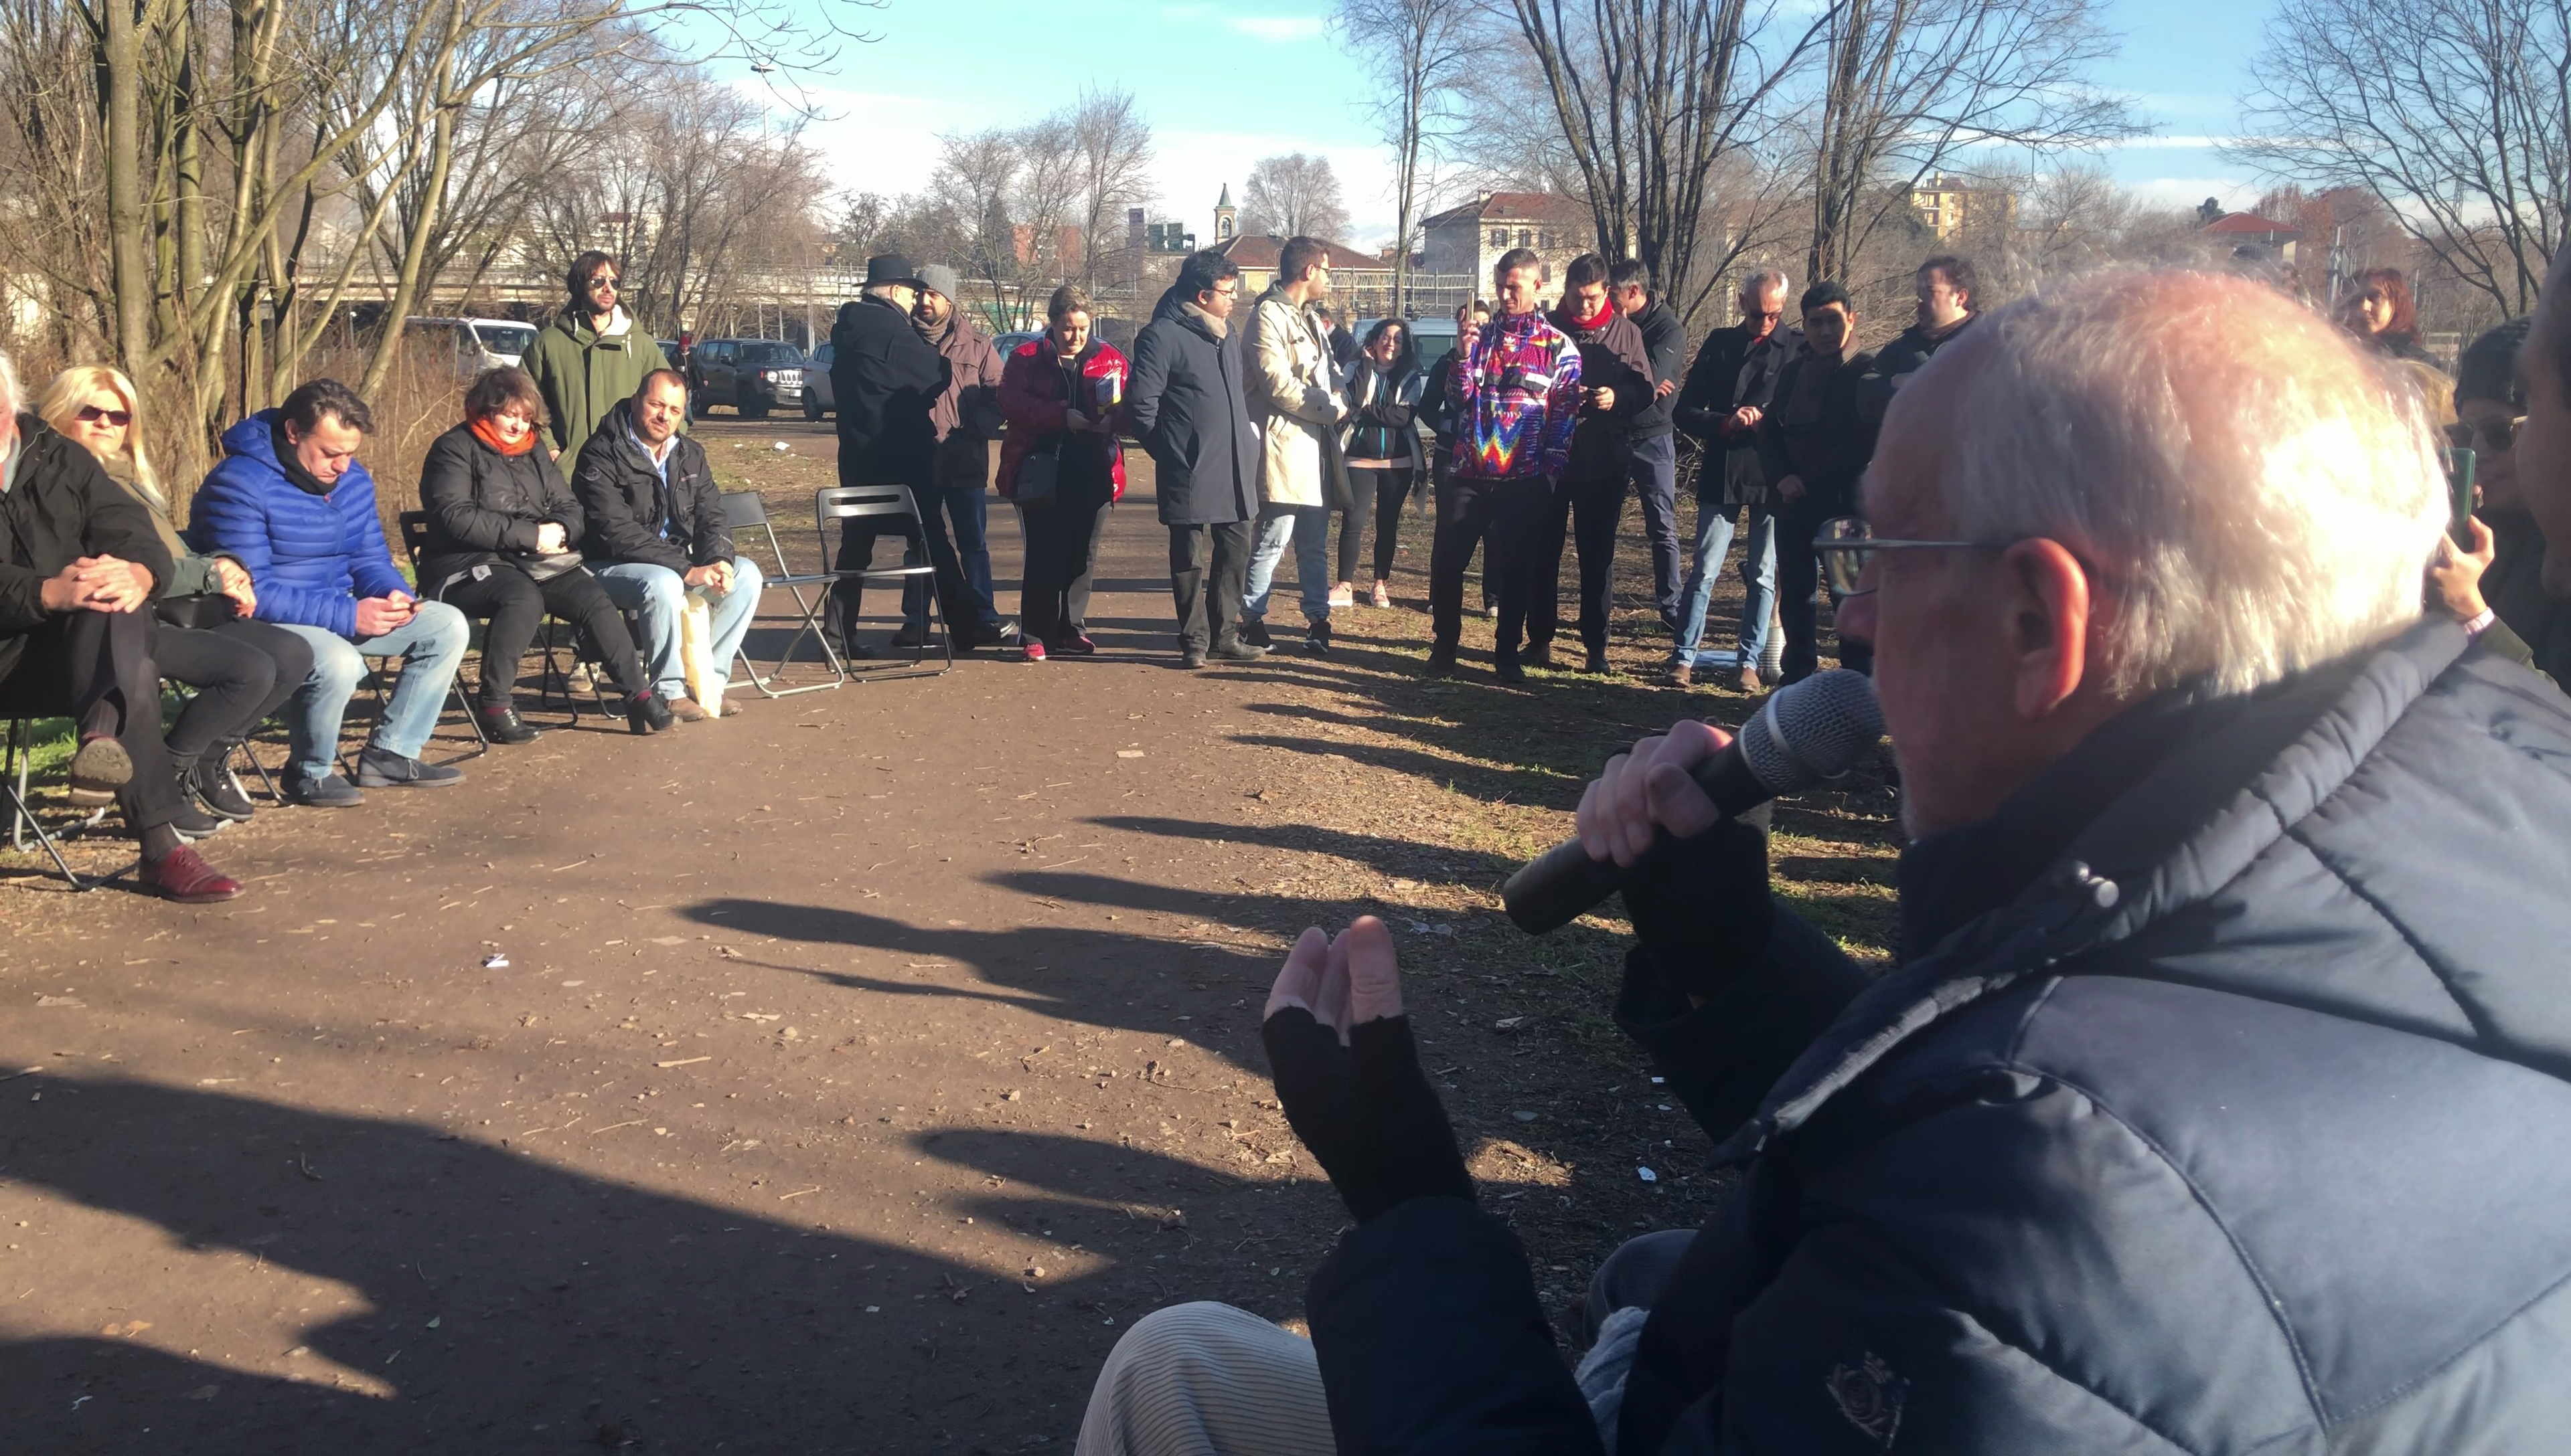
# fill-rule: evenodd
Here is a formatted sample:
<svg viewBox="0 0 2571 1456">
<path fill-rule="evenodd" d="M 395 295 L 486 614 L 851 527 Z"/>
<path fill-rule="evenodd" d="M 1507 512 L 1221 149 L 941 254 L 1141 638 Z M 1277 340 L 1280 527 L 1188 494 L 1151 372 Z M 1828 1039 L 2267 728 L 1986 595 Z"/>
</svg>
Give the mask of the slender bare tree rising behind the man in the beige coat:
<svg viewBox="0 0 2571 1456">
<path fill-rule="evenodd" d="M 1393 318 L 1409 316 L 1411 234 L 1427 169 L 1453 141 L 1458 82 L 1489 49 L 1478 0 L 1339 0 L 1339 44 L 1368 59 L 1375 126 L 1393 149 Z"/>
</svg>

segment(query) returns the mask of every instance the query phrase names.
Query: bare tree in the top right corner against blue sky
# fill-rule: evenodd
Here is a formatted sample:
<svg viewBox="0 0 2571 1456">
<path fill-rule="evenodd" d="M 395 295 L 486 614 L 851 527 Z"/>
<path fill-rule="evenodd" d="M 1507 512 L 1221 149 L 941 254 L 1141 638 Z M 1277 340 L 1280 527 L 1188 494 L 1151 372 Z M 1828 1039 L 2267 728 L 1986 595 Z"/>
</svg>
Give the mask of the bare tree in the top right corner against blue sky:
<svg viewBox="0 0 2571 1456">
<path fill-rule="evenodd" d="M 2370 193 L 2442 270 L 2525 313 L 2571 208 L 2566 49 L 2571 0 L 2286 0 L 2229 154 Z"/>
</svg>

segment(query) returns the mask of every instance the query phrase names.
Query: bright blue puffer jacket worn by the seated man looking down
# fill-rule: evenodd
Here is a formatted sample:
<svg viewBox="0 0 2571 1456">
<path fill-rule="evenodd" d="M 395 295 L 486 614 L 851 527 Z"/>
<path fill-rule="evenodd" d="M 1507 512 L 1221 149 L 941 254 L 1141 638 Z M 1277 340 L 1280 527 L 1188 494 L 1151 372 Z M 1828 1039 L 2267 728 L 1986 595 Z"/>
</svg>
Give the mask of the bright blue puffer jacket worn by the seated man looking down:
<svg viewBox="0 0 2571 1456">
<path fill-rule="evenodd" d="M 411 593 L 383 544 L 375 478 L 350 462 L 329 496 L 314 496 L 278 465 L 275 424 L 267 408 L 224 431 L 229 457 L 195 488 L 188 542 L 249 568 L 260 621 L 355 637 L 357 598 Z"/>
</svg>

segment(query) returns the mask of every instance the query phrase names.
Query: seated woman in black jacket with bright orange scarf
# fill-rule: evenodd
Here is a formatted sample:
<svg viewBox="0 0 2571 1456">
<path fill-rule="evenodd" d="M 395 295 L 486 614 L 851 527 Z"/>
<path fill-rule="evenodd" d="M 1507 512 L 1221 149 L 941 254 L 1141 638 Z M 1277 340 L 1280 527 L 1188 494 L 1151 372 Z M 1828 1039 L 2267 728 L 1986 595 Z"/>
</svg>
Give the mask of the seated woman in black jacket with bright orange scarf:
<svg viewBox="0 0 2571 1456">
<path fill-rule="evenodd" d="M 473 704 L 491 742 L 535 740 L 512 688 L 548 611 L 599 650 L 632 729 L 661 732 L 674 722 L 668 704 L 653 696 L 625 616 L 571 547 L 586 521 L 563 472 L 537 449 L 542 424 L 545 398 L 524 370 L 483 370 L 465 388 L 465 421 L 429 444 L 419 470 L 429 516 L 419 596 L 491 621 Z"/>
</svg>

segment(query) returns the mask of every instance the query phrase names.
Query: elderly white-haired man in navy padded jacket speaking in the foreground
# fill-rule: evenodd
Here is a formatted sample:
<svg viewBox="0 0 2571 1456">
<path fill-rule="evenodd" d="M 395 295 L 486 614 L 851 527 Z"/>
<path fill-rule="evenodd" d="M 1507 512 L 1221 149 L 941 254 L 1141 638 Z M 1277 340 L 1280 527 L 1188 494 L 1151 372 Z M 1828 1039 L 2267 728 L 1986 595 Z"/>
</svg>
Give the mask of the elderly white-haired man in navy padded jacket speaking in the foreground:
<svg viewBox="0 0 2571 1456">
<path fill-rule="evenodd" d="M 2412 390 L 2252 282 L 2075 280 L 1895 395 L 1864 508 L 1823 544 L 1903 768 L 1895 963 L 1771 901 L 1684 773 L 1712 727 L 1579 811 L 1728 1207 L 1620 1248 L 1566 1369 L 1391 937 L 1309 930 L 1268 1045 L 1357 1220 L 1311 1343 L 1165 1310 L 1085 1453 L 2561 1443 L 2571 704 L 2422 619 Z M 1252 1397 L 1303 1443 L 1185 1443 Z"/>
</svg>

